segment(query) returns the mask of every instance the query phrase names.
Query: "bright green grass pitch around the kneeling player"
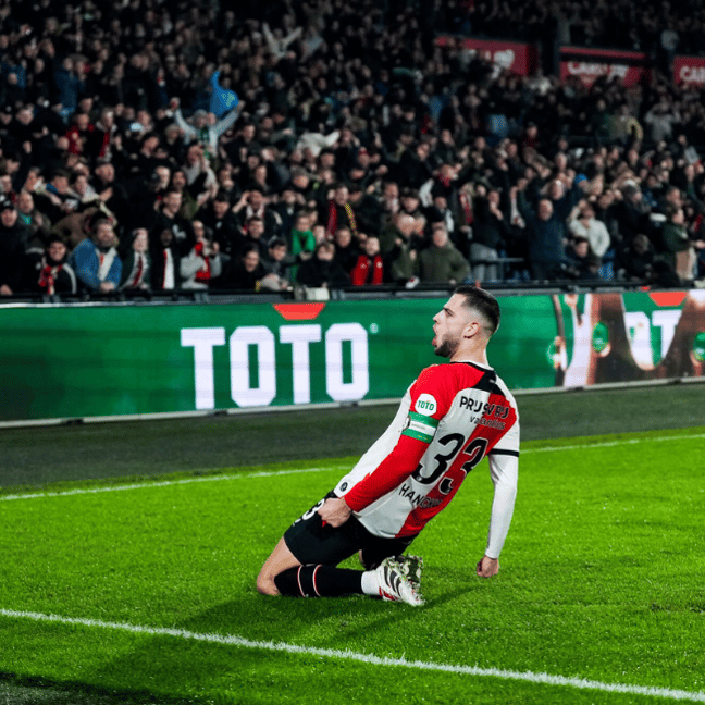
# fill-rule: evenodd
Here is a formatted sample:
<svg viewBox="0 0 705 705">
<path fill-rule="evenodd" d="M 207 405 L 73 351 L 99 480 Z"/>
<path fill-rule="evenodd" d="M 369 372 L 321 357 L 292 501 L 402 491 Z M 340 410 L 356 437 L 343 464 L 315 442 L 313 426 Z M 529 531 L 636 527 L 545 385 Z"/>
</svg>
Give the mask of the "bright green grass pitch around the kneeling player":
<svg viewBox="0 0 705 705">
<path fill-rule="evenodd" d="M 492 500 L 483 462 L 413 545 L 426 566 L 421 608 L 255 591 L 282 532 L 351 459 L 5 491 L 0 671 L 84 697 L 118 691 L 122 703 L 621 704 L 658 702 L 663 689 L 705 702 L 704 431 L 524 444 L 492 580 L 473 574 Z M 540 673 L 595 688 L 534 682 Z"/>
</svg>

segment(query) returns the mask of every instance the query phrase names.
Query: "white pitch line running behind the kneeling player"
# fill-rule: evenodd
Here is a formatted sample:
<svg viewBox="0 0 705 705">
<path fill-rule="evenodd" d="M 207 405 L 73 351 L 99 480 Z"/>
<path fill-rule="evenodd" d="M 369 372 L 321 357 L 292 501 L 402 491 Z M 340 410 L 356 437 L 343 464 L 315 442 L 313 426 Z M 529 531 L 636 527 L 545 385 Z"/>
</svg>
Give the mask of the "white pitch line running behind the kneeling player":
<svg viewBox="0 0 705 705">
<path fill-rule="evenodd" d="M 527 448 L 521 450 L 521 455 L 530 455 L 532 453 L 560 453 L 561 450 L 582 450 L 585 448 L 614 448 L 615 446 L 620 445 L 638 445 L 640 443 L 657 443 L 661 441 L 695 441 L 700 438 L 705 438 L 705 433 L 647 438 L 622 438 L 619 441 L 605 441 L 603 443 L 583 443 L 565 446 L 545 446 L 543 448 Z M 184 480 L 164 480 L 162 482 L 146 481 L 127 485 L 109 485 L 107 487 L 82 487 L 76 490 L 66 490 L 65 492 L 34 492 L 27 494 L 0 495 L 0 502 L 40 499 L 42 497 L 71 497 L 74 495 L 100 494 L 102 492 L 123 492 L 125 490 L 149 490 L 151 487 L 171 487 L 173 485 L 194 484 L 197 482 L 222 482 L 225 480 L 249 480 L 250 478 L 274 478 L 286 474 L 306 474 L 308 472 L 325 472 L 337 469 L 337 467 L 331 466 L 322 468 L 298 468 L 294 470 L 243 472 L 242 474 L 206 475 L 202 478 L 185 478 Z"/>
</svg>

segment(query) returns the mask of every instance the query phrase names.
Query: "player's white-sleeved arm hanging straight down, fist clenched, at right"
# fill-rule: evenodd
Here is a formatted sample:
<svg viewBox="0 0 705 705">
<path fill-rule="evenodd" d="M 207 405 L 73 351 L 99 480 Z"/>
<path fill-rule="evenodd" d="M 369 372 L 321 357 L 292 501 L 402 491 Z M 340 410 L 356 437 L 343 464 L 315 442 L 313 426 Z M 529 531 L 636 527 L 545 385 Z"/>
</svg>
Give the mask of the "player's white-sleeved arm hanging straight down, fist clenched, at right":
<svg viewBox="0 0 705 705">
<path fill-rule="evenodd" d="M 499 554 L 507 533 L 509 533 L 517 497 L 519 453 L 516 450 L 493 450 L 490 454 L 490 473 L 495 490 L 490 516 L 487 547 L 485 555 L 477 566 L 477 573 L 482 578 L 491 578 L 499 571 Z"/>
</svg>

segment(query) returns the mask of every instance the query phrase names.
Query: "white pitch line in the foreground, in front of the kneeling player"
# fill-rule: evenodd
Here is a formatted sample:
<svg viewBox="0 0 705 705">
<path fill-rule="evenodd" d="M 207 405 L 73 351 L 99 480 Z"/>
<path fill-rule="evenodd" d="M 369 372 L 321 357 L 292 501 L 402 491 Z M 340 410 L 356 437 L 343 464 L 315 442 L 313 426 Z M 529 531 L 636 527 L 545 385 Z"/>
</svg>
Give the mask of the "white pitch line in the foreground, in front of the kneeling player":
<svg viewBox="0 0 705 705">
<path fill-rule="evenodd" d="M 144 627 L 125 622 L 108 622 L 97 619 L 79 619 L 62 617 L 60 615 L 44 615 L 33 611 L 15 611 L 13 609 L 0 609 L 0 616 L 14 619 L 29 619 L 37 622 L 54 622 L 77 627 L 96 627 L 98 629 L 112 629 L 128 632 L 132 634 L 146 634 L 149 636 L 173 636 L 189 641 L 207 642 L 242 648 L 260 648 L 272 652 L 285 652 L 287 654 L 302 654 L 308 656 L 323 656 L 326 658 L 343 658 L 372 666 L 401 666 L 428 671 L 443 671 L 447 673 L 459 673 L 465 676 L 480 676 L 499 678 L 503 680 L 527 681 L 544 685 L 564 685 L 581 690 L 597 690 L 607 693 L 628 693 L 630 695 L 647 695 L 652 697 L 665 697 L 673 701 L 690 701 L 705 703 L 705 693 L 697 691 L 673 690 L 670 688 L 655 688 L 647 685 L 627 685 L 622 683 L 604 683 L 602 681 L 588 680 L 584 678 L 571 678 L 566 676 L 552 676 L 551 673 L 534 673 L 532 671 L 514 671 L 502 668 L 480 668 L 479 666 L 459 666 L 456 664 L 434 664 L 432 661 L 407 660 L 406 658 L 391 658 L 387 656 L 375 656 L 374 654 L 361 654 L 352 651 L 341 651 L 337 648 L 317 648 L 314 646 L 299 646 L 298 644 L 286 644 L 283 642 L 251 641 L 235 634 L 211 634 L 191 632 L 185 629 L 165 629 L 157 627 Z"/>
</svg>

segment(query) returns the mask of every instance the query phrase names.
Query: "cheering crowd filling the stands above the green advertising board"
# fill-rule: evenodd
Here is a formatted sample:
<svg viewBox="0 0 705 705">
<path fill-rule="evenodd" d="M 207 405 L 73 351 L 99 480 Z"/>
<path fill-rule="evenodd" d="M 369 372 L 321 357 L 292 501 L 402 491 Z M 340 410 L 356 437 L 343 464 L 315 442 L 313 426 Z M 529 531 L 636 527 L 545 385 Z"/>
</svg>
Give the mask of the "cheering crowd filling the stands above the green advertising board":
<svg viewBox="0 0 705 705">
<path fill-rule="evenodd" d="M 665 71 L 694 5 L 2 0 L 0 294 L 703 277 L 705 103 Z M 435 41 L 470 32 L 655 66 Z"/>
</svg>

